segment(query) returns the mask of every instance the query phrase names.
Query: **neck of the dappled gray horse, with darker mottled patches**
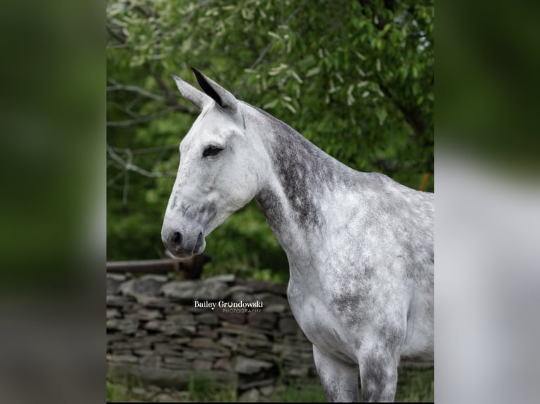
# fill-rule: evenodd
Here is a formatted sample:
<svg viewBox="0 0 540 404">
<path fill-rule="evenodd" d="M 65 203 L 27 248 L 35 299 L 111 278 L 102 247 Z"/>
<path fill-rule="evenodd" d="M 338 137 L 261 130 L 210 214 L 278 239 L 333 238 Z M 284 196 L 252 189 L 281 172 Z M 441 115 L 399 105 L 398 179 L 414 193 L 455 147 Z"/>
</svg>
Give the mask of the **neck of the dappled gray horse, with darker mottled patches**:
<svg viewBox="0 0 540 404">
<path fill-rule="evenodd" d="M 303 260 L 324 231 L 324 209 L 336 179 L 348 168 L 264 111 L 256 120 L 271 170 L 256 196 L 289 261 Z M 350 169 L 348 169 L 350 170 Z M 326 198 L 325 198 L 326 197 Z"/>
</svg>

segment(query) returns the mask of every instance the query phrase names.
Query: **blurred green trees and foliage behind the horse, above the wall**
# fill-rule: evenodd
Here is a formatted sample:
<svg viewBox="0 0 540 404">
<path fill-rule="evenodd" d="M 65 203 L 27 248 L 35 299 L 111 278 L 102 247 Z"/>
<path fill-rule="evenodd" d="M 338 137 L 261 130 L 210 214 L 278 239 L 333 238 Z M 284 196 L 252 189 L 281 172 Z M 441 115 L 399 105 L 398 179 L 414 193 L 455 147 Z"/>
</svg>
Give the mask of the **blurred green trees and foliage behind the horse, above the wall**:
<svg viewBox="0 0 540 404">
<path fill-rule="evenodd" d="M 434 1 L 109 0 L 107 260 L 164 255 L 190 66 L 352 168 L 434 191 Z M 256 203 L 207 237 L 205 274 L 288 279 Z"/>
</svg>

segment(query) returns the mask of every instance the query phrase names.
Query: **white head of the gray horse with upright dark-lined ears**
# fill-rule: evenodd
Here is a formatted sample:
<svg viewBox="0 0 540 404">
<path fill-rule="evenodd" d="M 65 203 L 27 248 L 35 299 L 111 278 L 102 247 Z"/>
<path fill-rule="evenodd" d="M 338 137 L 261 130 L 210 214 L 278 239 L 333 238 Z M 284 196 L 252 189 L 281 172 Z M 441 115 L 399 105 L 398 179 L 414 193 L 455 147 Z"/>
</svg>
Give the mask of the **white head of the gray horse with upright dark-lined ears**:
<svg viewBox="0 0 540 404">
<path fill-rule="evenodd" d="M 180 143 L 180 165 L 161 229 L 164 245 L 180 258 L 202 253 L 206 236 L 254 198 L 267 160 L 257 130 L 246 130 L 251 108 L 192 70 L 204 92 L 172 76 L 180 94 L 201 113 Z"/>
</svg>

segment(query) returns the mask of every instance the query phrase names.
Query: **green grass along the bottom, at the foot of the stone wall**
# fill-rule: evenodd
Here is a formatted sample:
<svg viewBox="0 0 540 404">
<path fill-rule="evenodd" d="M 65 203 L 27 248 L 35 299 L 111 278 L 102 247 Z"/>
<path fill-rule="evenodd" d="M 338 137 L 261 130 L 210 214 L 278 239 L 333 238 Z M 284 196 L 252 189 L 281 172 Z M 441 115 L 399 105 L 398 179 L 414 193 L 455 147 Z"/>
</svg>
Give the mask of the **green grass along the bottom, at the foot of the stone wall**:
<svg viewBox="0 0 540 404">
<path fill-rule="evenodd" d="M 137 402 L 144 397 L 133 392 L 135 387 L 145 387 L 142 381 L 107 380 L 106 398 L 108 402 Z M 175 391 L 171 391 L 174 394 Z M 398 389 L 395 401 L 402 403 L 433 402 L 434 369 L 400 368 Z M 237 399 L 231 386 L 215 384 L 213 380 L 193 374 L 188 383 L 189 401 L 214 403 L 233 403 Z M 326 403 L 326 396 L 320 383 L 298 384 L 296 381 L 281 378 L 278 386 L 269 397 L 270 402 L 278 403 Z"/>
</svg>

